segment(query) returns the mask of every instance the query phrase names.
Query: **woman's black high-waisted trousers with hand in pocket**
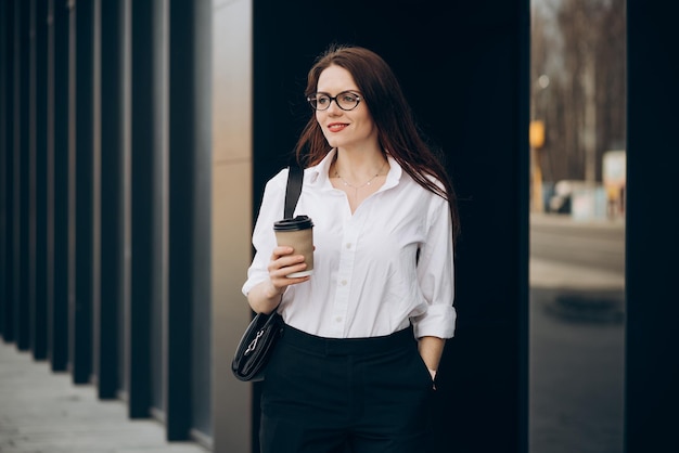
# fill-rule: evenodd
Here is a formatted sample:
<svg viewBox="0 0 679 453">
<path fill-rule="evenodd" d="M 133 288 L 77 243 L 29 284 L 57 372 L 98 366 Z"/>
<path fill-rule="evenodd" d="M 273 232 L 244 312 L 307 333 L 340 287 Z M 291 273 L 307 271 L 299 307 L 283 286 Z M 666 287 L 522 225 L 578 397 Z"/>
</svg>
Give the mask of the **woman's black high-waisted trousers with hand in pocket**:
<svg viewBox="0 0 679 453">
<path fill-rule="evenodd" d="M 412 328 L 331 339 L 285 326 L 262 387 L 261 452 L 428 452 L 432 387 Z"/>
</svg>

